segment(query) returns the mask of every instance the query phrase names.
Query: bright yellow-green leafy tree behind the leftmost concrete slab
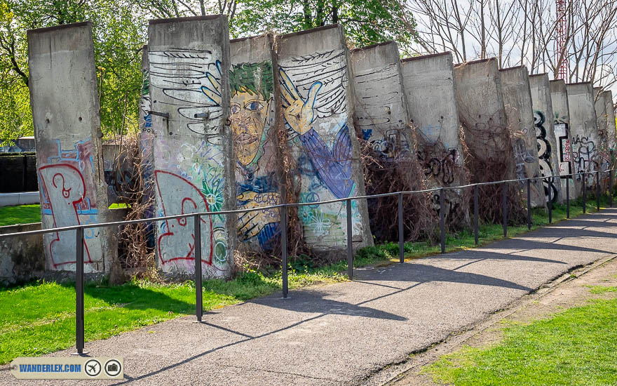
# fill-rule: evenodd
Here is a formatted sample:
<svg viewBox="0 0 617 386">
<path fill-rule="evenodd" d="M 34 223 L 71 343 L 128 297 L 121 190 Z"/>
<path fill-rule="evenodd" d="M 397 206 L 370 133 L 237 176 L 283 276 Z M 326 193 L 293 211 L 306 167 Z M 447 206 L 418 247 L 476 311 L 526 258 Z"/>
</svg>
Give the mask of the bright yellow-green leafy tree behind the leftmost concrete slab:
<svg viewBox="0 0 617 386">
<path fill-rule="evenodd" d="M 102 131 L 106 138 L 137 128 L 145 13 L 113 0 L 0 0 L 0 140 L 32 135 L 28 29 L 91 20 Z"/>
</svg>

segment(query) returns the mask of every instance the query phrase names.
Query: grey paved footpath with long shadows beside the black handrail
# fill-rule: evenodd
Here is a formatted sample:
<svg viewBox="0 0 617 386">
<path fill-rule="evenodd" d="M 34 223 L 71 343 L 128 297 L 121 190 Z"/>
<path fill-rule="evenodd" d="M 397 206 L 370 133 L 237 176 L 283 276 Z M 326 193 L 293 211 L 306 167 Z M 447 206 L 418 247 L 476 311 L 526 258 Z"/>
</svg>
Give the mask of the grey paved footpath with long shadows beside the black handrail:
<svg viewBox="0 0 617 386">
<path fill-rule="evenodd" d="M 91 355 L 124 357 L 126 367 L 123 382 L 91 383 L 362 384 L 572 267 L 616 254 L 616 235 L 610 209 L 484 248 L 356 269 L 352 283 L 224 307 L 204 324 L 175 319 L 87 342 Z M 16 383 L 8 371 L 3 382 Z"/>
</svg>

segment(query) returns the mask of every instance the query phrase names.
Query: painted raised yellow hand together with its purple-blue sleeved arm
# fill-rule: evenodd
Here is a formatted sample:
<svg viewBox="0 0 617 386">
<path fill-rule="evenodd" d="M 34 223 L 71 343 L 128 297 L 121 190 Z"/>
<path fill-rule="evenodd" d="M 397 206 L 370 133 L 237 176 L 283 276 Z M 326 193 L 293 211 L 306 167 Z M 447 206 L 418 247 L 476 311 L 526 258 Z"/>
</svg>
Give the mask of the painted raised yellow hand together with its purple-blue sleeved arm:
<svg viewBox="0 0 617 386">
<path fill-rule="evenodd" d="M 292 130 L 300 138 L 313 168 L 334 197 L 339 199 L 349 197 L 353 180 L 351 180 L 351 139 L 346 121 L 337 131 L 330 150 L 311 126 L 317 117 L 316 100 L 323 82 L 313 82 L 306 98 L 303 98 L 285 69 L 279 70 L 279 76 L 283 115 L 288 131 Z"/>
</svg>

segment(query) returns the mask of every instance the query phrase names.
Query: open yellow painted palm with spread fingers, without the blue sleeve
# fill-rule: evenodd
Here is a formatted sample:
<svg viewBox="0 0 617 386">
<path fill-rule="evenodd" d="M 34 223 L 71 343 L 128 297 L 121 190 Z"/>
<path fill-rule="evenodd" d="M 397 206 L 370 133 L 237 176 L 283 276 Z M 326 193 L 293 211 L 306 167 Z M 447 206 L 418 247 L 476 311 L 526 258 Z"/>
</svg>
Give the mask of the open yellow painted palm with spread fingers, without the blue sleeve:
<svg viewBox="0 0 617 386">
<path fill-rule="evenodd" d="M 306 100 L 304 100 L 285 70 L 280 69 L 279 74 L 285 121 L 295 132 L 300 135 L 304 134 L 311 129 L 311 124 L 315 120 L 315 100 L 322 83 L 320 81 L 313 83 L 311 88 L 308 89 Z"/>
</svg>

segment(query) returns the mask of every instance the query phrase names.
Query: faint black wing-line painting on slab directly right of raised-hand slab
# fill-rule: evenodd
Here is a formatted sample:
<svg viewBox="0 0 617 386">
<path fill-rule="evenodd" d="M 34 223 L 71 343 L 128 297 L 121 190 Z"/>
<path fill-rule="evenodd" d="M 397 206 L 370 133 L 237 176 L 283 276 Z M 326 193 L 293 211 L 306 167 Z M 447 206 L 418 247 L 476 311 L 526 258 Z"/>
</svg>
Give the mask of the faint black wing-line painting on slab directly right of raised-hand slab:
<svg viewBox="0 0 617 386">
<path fill-rule="evenodd" d="M 355 114 L 362 136 L 384 161 L 394 161 L 409 152 L 402 119 L 402 98 L 398 64 L 358 71 Z"/>
</svg>

